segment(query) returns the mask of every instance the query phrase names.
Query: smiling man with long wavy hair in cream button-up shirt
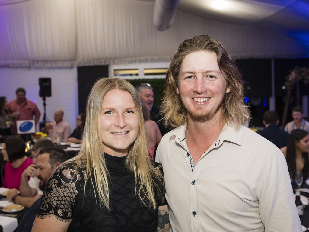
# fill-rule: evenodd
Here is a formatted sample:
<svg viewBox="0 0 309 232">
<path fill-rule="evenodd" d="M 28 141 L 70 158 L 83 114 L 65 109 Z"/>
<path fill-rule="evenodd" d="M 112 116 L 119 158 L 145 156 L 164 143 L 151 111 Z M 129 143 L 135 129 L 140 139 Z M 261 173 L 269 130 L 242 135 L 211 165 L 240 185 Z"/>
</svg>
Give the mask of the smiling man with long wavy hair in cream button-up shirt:
<svg viewBox="0 0 309 232">
<path fill-rule="evenodd" d="M 184 40 L 166 75 L 162 163 L 171 231 L 302 231 L 280 149 L 243 126 L 243 82 L 223 45 Z"/>
</svg>

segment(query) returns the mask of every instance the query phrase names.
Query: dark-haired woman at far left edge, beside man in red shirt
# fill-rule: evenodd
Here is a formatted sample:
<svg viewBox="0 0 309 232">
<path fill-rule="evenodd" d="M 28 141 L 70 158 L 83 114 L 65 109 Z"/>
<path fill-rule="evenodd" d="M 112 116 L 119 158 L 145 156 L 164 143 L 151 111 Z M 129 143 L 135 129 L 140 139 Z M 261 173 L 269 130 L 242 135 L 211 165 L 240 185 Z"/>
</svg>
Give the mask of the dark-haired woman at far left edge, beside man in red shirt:
<svg viewBox="0 0 309 232">
<path fill-rule="evenodd" d="M 6 110 L 6 107 L 6 97 L 0 97 L 0 138 L 3 135 L 11 135 L 11 125 L 13 125 L 10 114 Z"/>
</svg>

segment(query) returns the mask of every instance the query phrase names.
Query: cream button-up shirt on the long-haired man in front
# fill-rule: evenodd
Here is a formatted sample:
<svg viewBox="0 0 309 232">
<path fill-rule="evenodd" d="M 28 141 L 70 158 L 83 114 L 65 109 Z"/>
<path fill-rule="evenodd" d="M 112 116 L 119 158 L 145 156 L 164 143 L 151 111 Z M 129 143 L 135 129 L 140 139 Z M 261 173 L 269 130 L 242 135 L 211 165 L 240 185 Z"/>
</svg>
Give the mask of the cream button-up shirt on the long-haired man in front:
<svg viewBox="0 0 309 232">
<path fill-rule="evenodd" d="M 302 231 L 283 154 L 246 127 L 225 125 L 195 167 L 185 126 L 177 127 L 163 136 L 156 161 L 172 232 Z"/>
</svg>

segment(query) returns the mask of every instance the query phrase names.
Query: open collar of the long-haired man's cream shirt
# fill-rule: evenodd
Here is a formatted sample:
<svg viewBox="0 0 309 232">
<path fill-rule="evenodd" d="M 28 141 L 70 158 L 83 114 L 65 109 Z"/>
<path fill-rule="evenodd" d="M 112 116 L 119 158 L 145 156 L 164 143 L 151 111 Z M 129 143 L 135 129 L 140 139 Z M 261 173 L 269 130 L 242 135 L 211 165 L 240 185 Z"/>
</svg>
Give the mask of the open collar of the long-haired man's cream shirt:
<svg viewBox="0 0 309 232">
<path fill-rule="evenodd" d="M 242 126 L 241 126 L 242 127 Z M 185 125 L 181 125 L 173 130 L 172 135 L 170 136 L 169 140 L 172 140 L 173 138 L 176 140 L 177 143 L 181 142 L 185 139 Z M 234 144 L 238 144 L 241 146 L 241 140 L 242 140 L 242 130 L 236 130 L 235 126 L 230 124 L 225 124 L 223 126 L 223 129 L 217 139 L 218 143 L 215 143 L 216 147 L 220 146 L 224 141 L 231 142 Z"/>
</svg>

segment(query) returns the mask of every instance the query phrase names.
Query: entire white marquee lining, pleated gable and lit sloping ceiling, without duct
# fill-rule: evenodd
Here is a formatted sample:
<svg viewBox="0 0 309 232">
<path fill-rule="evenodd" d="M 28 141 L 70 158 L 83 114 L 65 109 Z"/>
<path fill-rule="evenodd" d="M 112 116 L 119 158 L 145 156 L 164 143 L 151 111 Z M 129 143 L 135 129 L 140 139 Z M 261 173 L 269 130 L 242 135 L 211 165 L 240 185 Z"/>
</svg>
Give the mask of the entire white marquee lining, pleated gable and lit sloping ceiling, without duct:
<svg viewBox="0 0 309 232">
<path fill-rule="evenodd" d="M 309 54 L 307 1 L 180 0 L 163 32 L 153 9 L 151 0 L 0 0 L 0 66 L 167 61 L 196 34 L 217 38 L 234 58 Z"/>
</svg>

